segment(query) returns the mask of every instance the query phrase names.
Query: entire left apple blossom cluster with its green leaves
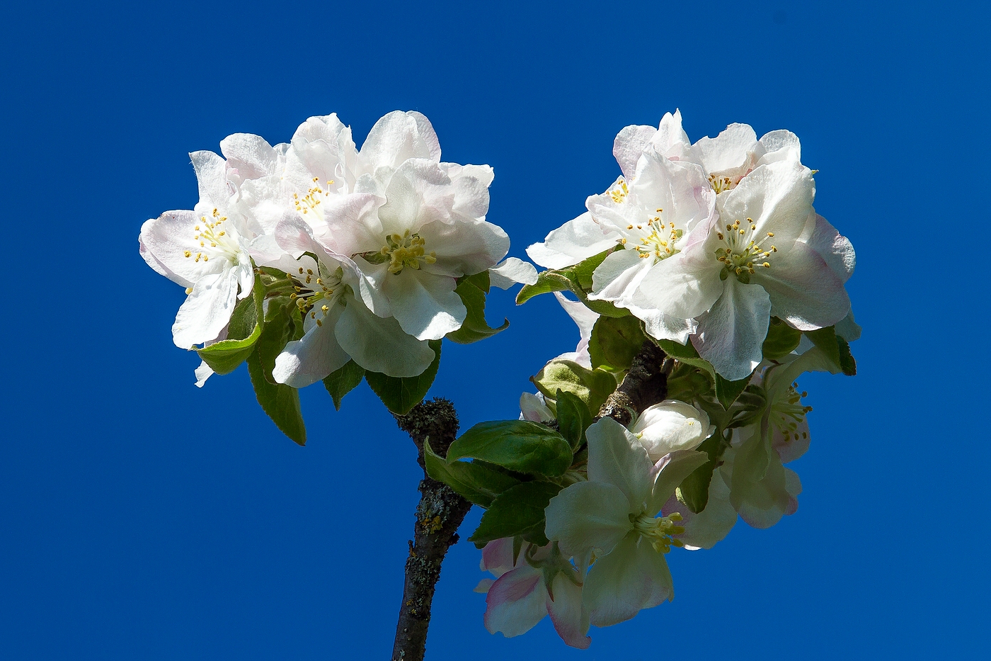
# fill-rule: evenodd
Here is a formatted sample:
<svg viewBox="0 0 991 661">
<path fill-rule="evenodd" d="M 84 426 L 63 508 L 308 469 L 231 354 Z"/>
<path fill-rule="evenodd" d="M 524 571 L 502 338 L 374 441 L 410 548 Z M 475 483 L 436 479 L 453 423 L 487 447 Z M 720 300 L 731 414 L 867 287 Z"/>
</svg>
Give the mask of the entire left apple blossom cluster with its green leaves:
<svg viewBox="0 0 991 661">
<path fill-rule="evenodd" d="M 532 265 L 503 260 L 509 238 L 486 220 L 492 168 L 441 162 L 418 112 L 388 113 L 361 149 L 334 114 L 288 144 L 239 133 L 220 148 L 190 154 L 199 201 L 145 222 L 141 255 L 186 288 L 172 339 L 199 351 L 196 384 L 247 360 L 259 401 L 297 442 L 291 389 L 324 380 L 339 406 L 367 376 L 404 412 L 416 402 L 389 399 L 393 380 L 427 374 L 412 388 L 422 397 L 441 338 L 505 328 L 485 323 L 490 284 L 535 282 Z"/>
</svg>

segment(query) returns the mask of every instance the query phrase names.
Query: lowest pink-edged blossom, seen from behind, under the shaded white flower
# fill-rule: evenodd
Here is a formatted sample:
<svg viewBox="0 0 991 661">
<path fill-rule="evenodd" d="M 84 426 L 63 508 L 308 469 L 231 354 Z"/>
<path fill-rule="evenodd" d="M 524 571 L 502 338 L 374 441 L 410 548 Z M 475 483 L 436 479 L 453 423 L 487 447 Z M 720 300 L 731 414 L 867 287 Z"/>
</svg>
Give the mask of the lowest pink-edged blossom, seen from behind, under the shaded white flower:
<svg viewBox="0 0 991 661">
<path fill-rule="evenodd" d="M 512 538 L 498 539 L 486 545 L 481 567 L 496 577 L 476 589 L 488 593 L 485 623 L 490 633 L 518 636 L 549 614 L 562 640 L 579 649 L 589 647 L 581 575 L 553 545 L 527 545 L 513 565 Z"/>
</svg>

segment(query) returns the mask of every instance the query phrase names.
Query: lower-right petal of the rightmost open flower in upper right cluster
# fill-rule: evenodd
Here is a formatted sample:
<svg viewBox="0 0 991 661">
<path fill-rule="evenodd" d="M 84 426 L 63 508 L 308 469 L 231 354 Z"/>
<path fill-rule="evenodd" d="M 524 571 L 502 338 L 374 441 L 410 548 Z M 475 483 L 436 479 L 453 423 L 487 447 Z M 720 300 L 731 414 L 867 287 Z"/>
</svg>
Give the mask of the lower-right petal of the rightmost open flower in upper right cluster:
<svg viewBox="0 0 991 661">
<path fill-rule="evenodd" d="M 771 314 L 800 331 L 832 326 L 850 312 L 843 282 L 810 246 L 796 241 L 751 278 L 770 295 Z"/>
</svg>

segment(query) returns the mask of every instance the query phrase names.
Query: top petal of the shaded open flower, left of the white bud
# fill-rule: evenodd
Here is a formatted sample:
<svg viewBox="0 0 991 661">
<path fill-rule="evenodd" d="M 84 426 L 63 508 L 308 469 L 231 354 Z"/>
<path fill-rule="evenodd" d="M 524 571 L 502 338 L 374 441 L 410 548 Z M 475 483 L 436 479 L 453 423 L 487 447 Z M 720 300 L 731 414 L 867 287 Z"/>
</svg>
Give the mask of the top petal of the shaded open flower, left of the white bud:
<svg viewBox="0 0 991 661">
<path fill-rule="evenodd" d="M 619 488 L 629 500 L 628 512 L 639 513 L 657 473 L 647 451 L 625 427 L 602 418 L 586 432 L 589 440 L 589 480 Z"/>
</svg>

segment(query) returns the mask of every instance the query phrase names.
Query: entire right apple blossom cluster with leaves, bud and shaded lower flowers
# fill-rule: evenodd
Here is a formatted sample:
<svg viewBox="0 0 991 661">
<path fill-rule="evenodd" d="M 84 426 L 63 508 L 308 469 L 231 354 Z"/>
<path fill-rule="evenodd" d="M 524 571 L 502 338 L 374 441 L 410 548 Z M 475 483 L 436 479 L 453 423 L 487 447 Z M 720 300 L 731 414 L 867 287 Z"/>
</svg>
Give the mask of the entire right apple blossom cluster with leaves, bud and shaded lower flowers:
<svg viewBox="0 0 991 661">
<path fill-rule="evenodd" d="M 592 625 L 673 598 L 673 549 L 797 511 L 785 464 L 809 449 L 812 411 L 797 379 L 854 374 L 860 334 L 844 290 L 852 246 L 813 208 L 793 134 L 757 140 L 734 124 L 693 145 L 676 112 L 624 128 L 613 154 L 622 176 L 530 246 L 549 270 L 517 297 L 553 292 L 578 346 L 532 377 L 518 420 L 427 457 L 486 509 L 471 541 L 493 577 L 476 588 L 489 631 L 549 615 L 579 648 Z M 604 404 L 649 345 L 666 355 L 666 396 L 624 426 Z"/>
</svg>

